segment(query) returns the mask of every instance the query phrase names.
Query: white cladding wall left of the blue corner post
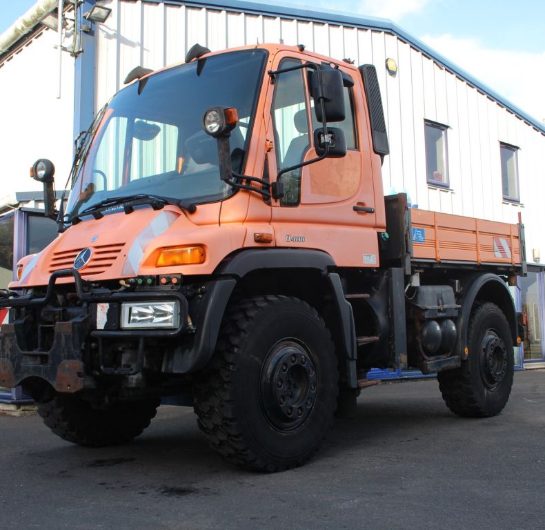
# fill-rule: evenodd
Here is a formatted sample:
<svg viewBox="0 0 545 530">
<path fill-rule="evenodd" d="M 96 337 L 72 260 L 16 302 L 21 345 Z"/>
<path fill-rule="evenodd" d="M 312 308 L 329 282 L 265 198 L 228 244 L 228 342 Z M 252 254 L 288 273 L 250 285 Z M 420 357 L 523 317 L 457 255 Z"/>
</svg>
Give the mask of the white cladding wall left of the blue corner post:
<svg viewBox="0 0 545 530">
<path fill-rule="evenodd" d="M 16 191 L 42 190 L 30 179 L 38 158 L 55 165 L 61 189 L 72 163 L 74 61 L 63 57 L 61 98 L 57 99 L 57 32 L 44 29 L 0 65 L 0 198 Z"/>
</svg>

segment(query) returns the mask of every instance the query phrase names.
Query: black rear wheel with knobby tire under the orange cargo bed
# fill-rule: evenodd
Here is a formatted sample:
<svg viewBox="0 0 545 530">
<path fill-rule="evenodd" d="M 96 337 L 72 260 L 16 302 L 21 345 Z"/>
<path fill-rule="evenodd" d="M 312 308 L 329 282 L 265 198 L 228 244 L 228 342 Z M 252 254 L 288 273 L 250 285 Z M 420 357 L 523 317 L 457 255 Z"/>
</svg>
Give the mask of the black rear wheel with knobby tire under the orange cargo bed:
<svg viewBox="0 0 545 530">
<path fill-rule="evenodd" d="M 488 418 L 506 405 L 513 385 L 513 339 L 502 310 L 478 303 L 468 326 L 468 358 L 437 380 L 446 406 L 460 416 Z"/>
</svg>

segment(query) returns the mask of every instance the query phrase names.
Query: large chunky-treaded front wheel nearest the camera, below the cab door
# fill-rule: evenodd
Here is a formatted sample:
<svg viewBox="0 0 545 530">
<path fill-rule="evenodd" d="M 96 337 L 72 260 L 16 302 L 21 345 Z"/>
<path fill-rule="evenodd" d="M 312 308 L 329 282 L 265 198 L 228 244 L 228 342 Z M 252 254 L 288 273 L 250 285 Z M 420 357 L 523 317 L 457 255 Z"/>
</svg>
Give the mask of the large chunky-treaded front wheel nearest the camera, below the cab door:
<svg viewBox="0 0 545 530">
<path fill-rule="evenodd" d="M 241 300 L 226 312 L 206 377 L 195 387 L 199 428 L 232 464 L 268 472 L 297 467 L 333 423 L 338 377 L 330 333 L 306 302 Z"/>
</svg>

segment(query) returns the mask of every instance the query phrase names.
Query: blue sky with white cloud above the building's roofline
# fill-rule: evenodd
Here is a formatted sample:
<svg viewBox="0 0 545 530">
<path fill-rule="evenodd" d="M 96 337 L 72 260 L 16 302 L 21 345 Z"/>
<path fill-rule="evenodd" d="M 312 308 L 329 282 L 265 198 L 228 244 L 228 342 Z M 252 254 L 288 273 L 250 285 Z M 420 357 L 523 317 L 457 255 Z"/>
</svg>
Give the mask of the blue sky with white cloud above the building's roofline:
<svg viewBox="0 0 545 530">
<path fill-rule="evenodd" d="M 252 1 L 390 19 L 538 121 L 545 119 L 545 0 Z M 0 0 L 0 34 L 34 3 Z"/>
</svg>

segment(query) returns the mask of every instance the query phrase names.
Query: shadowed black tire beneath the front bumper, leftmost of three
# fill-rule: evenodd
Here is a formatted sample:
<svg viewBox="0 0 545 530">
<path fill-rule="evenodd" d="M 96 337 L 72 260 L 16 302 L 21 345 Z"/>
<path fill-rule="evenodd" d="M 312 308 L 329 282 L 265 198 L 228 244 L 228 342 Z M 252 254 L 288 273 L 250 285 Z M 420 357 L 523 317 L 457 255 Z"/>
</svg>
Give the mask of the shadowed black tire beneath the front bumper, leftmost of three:
<svg viewBox="0 0 545 530">
<path fill-rule="evenodd" d="M 136 438 L 157 413 L 159 399 L 122 402 L 108 409 L 93 409 L 78 395 L 57 395 L 38 405 L 38 413 L 57 436 L 67 442 L 104 447 Z"/>
</svg>

